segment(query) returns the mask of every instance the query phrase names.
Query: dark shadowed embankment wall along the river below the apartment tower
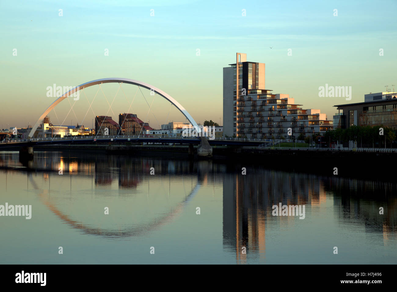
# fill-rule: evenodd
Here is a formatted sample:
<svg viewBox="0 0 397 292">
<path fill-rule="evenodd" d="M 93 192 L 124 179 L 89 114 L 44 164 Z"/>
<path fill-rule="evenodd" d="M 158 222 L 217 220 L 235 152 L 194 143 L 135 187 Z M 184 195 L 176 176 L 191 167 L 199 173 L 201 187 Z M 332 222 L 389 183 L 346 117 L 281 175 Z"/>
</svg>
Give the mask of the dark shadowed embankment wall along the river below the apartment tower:
<svg viewBox="0 0 397 292">
<path fill-rule="evenodd" d="M 261 165 L 264 168 L 306 172 L 325 176 L 356 177 L 370 180 L 394 180 L 397 153 L 356 151 L 310 151 L 274 149 L 226 149 L 223 158 L 241 165 Z M 215 157 L 220 153 L 215 151 Z"/>
</svg>

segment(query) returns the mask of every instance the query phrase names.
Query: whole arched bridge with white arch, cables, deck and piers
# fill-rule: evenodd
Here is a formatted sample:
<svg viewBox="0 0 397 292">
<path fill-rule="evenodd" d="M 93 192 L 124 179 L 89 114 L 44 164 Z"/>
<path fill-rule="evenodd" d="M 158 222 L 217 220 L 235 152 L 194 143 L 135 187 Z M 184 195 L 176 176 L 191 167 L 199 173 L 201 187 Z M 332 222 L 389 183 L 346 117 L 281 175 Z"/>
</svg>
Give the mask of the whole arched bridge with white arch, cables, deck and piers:
<svg viewBox="0 0 397 292">
<path fill-rule="evenodd" d="M 187 112 L 187 110 L 179 103 L 177 102 L 173 97 L 171 97 L 169 94 L 167 94 L 166 92 L 160 90 L 159 88 L 156 88 L 150 84 L 138 81 L 138 80 L 133 80 L 133 79 L 128 79 L 128 78 L 103 78 L 103 79 L 97 79 L 97 80 L 93 80 L 93 81 L 89 81 L 83 84 L 80 84 L 79 86 L 76 86 L 74 88 L 72 88 L 71 90 L 65 92 L 62 96 L 58 97 L 55 101 L 53 101 L 47 108 L 46 110 L 39 116 L 39 118 L 37 119 L 37 122 L 35 123 L 35 125 L 33 126 L 33 128 L 31 129 L 31 131 L 29 132 L 28 135 L 28 139 L 16 139 L 13 141 L 0 141 L 0 149 L 6 150 L 6 149 L 14 149 L 19 147 L 20 150 L 20 154 L 23 155 L 28 155 L 28 156 L 32 156 L 33 155 L 33 146 L 36 145 L 51 145 L 51 144 L 87 144 L 87 143 L 121 143 L 121 142 L 131 142 L 131 143 L 172 143 L 172 144 L 179 144 L 179 145 L 189 145 L 191 147 L 189 147 L 189 150 L 193 151 L 193 145 L 199 145 L 198 149 L 197 149 L 197 154 L 198 155 L 202 155 L 202 156 L 207 156 L 207 155 L 211 155 L 212 154 L 212 149 L 210 147 L 210 145 L 240 145 L 240 146 L 258 146 L 261 145 L 263 143 L 265 143 L 266 141 L 264 140 L 260 140 L 260 139 L 241 139 L 241 138 L 224 138 L 224 139 L 208 139 L 205 137 L 181 137 L 181 138 L 177 138 L 177 137 L 148 137 L 148 135 L 143 135 L 143 127 L 140 129 L 139 135 L 133 135 L 133 136 L 129 136 L 129 135 L 125 135 L 123 132 L 121 132 L 122 126 L 123 124 L 119 125 L 119 132 L 117 135 L 113 135 L 113 136 L 99 136 L 98 134 L 100 134 L 98 131 L 98 133 L 96 133 L 95 136 L 66 136 L 66 137 L 33 137 L 35 136 L 35 132 L 37 130 L 37 128 L 39 127 L 39 125 L 41 124 L 42 120 L 51 112 L 54 111 L 56 117 L 58 118 L 58 115 L 56 114 L 55 111 L 55 107 L 57 105 L 59 105 L 62 101 L 67 100 L 71 106 L 71 109 L 69 110 L 69 113 L 72 111 L 75 114 L 75 111 L 73 110 L 73 106 L 75 105 L 75 102 L 73 103 L 73 105 L 71 104 L 69 97 L 72 97 L 73 94 L 75 93 L 79 93 L 84 92 L 85 88 L 89 88 L 91 86 L 96 86 L 98 85 L 98 91 L 94 96 L 94 99 L 96 97 L 96 95 L 98 94 L 99 90 L 102 91 L 104 97 L 106 98 L 106 102 L 108 103 L 109 109 L 108 112 L 106 113 L 106 116 L 108 116 L 109 111 L 112 111 L 112 113 L 114 114 L 114 111 L 112 110 L 112 104 L 114 99 L 116 98 L 116 96 L 114 97 L 113 101 L 111 101 L 111 103 L 108 101 L 108 98 L 106 97 L 106 95 L 104 94 L 101 85 L 102 84 L 106 84 L 106 83 L 118 83 L 119 84 L 119 89 L 121 87 L 122 84 L 132 84 L 135 86 L 138 86 L 138 89 L 141 91 L 141 87 L 142 88 L 146 88 L 148 90 L 150 90 L 150 95 L 159 95 L 161 97 L 163 97 L 164 99 L 166 99 L 167 101 L 169 101 L 171 103 L 171 107 L 174 106 L 178 109 L 178 111 L 180 113 L 182 113 L 183 116 L 185 116 L 185 118 L 189 121 L 189 123 L 192 125 L 193 128 L 195 128 L 197 136 L 202 136 L 200 135 L 202 133 L 202 131 L 200 130 L 200 128 L 198 127 L 197 122 L 194 120 L 194 118 Z M 138 92 L 137 89 L 137 92 Z M 122 90 L 124 93 L 124 90 Z M 119 90 L 118 90 L 119 92 Z M 135 93 L 135 96 L 137 94 L 137 92 Z M 141 91 L 142 93 L 142 91 Z M 117 93 L 116 93 L 117 95 Z M 124 93 L 125 95 L 125 93 Z M 152 108 L 152 105 L 149 105 L 148 101 L 146 100 L 145 95 L 142 93 L 143 97 L 145 98 L 145 101 L 149 107 L 149 111 L 148 114 Z M 127 111 L 127 113 L 130 111 L 133 101 L 135 100 L 135 96 L 132 100 L 132 102 L 130 103 L 127 96 L 125 95 L 127 102 L 129 104 L 129 109 Z M 89 110 L 91 109 L 92 113 L 94 114 L 95 118 L 96 115 L 91 107 L 91 105 L 94 102 L 94 99 L 92 102 L 90 102 L 87 98 L 87 95 L 85 95 L 87 102 L 88 102 L 88 109 L 87 112 L 85 113 L 84 118 L 79 122 L 79 119 L 77 118 L 77 116 L 75 115 L 78 124 L 83 125 L 84 120 L 89 112 Z M 74 101 L 78 100 L 78 99 L 73 99 Z M 153 101 L 154 101 L 154 97 L 153 97 Z M 153 103 L 152 101 L 152 103 Z M 170 111 L 171 111 L 171 107 L 170 107 Z M 168 112 L 168 115 L 170 113 L 170 111 Z M 67 114 L 67 116 L 69 115 L 69 113 Z M 154 114 L 153 114 L 154 115 Z M 64 121 L 66 120 L 67 116 L 65 117 Z M 156 118 L 156 116 L 154 116 Z M 167 116 L 168 118 L 168 116 Z M 58 120 L 59 121 L 59 120 Z M 60 126 L 63 125 L 64 121 L 62 122 L 62 124 L 60 124 Z M 124 119 L 125 121 L 125 119 Z M 124 123 L 123 121 L 123 123 Z M 158 122 L 157 118 L 156 121 Z M 100 125 L 100 129 L 102 129 L 102 125 L 103 125 L 104 120 L 102 120 L 102 124 Z M 99 124 L 99 123 L 98 123 Z M 81 126 L 80 126 L 81 128 Z M 79 129 L 80 129 L 79 128 Z M 164 130 L 164 129 L 162 129 Z M 44 131 L 44 129 L 43 129 Z M 101 130 L 102 131 L 102 130 Z M 104 134 L 102 132 L 102 134 Z M 142 135 L 141 135 L 142 134 Z M 45 136 L 45 134 L 44 134 Z"/>
</svg>

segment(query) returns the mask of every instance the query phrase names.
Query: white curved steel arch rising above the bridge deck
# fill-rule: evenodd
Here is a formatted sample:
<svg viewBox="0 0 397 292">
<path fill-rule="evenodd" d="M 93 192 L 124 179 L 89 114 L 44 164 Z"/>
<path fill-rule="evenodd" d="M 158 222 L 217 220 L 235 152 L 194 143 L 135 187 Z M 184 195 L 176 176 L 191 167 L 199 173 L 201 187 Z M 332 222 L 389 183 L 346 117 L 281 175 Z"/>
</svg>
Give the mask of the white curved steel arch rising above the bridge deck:
<svg viewBox="0 0 397 292">
<path fill-rule="evenodd" d="M 171 97 L 170 95 L 166 94 L 164 91 L 141 81 L 138 80 L 133 80 L 133 79 L 128 79 L 128 78 L 104 78 L 104 79 L 97 79 L 97 80 L 93 80 L 93 81 L 89 81 L 86 83 L 83 83 L 79 86 L 76 86 L 75 88 L 73 88 L 72 90 L 69 90 L 68 92 L 66 92 L 64 95 L 58 97 L 53 103 L 51 103 L 51 105 L 44 111 L 44 113 L 42 113 L 42 115 L 39 117 L 39 119 L 37 120 L 35 126 L 33 126 L 32 130 L 29 133 L 29 137 L 33 137 L 33 134 L 35 134 L 37 127 L 39 126 L 39 124 L 41 123 L 41 121 L 43 120 L 43 118 L 48 115 L 48 113 L 50 113 L 50 111 L 52 111 L 52 109 L 54 109 L 54 107 L 56 105 L 58 105 L 58 103 L 60 103 L 62 100 L 64 100 L 66 97 L 68 97 L 71 94 L 74 94 L 75 92 L 78 92 L 81 89 L 93 86 L 93 85 L 97 85 L 97 84 L 102 84 L 102 83 L 127 83 L 127 84 L 134 84 L 137 86 L 142 86 L 144 88 L 147 88 L 148 90 L 154 91 L 155 93 L 159 94 L 160 96 L 164 97 L 165 99 L 167 99 L 168 101 L 170 101 L 170 103 L 172 103 L 173 105 L 175 105 L 175 107 L 177 109 L 179 109 L 179 111 L 187 118 L 187 120 L 197 129 L 197 132 L 201 132 L 200 129 L 198 128 L 198 125 L 196 123 L 196 121 L 193 119 L 193 117 L 186 111 L 186 109 L 179 103 L 177 102 L 175 99 L 173 99 L 173 97 Z"/>
</svg>

